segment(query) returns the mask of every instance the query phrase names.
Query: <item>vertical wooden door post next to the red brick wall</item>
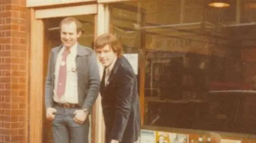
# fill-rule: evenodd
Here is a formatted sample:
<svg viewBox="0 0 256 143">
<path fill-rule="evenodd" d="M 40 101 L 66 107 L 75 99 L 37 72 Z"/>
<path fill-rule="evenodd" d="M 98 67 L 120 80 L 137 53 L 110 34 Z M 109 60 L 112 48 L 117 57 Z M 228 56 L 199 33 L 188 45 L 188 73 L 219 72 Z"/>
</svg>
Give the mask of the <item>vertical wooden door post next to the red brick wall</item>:
<svg viewBox="0 0 256 143">
<path fill-rule="evenodd" d="M 31 43 L 30 43 L 30 116 L 29 142 L 42 143 L 43 122 L 43 53 L 44 53 L 44 24 L 35 19 L 35 11 L 31 14 Z"/>
</svg>

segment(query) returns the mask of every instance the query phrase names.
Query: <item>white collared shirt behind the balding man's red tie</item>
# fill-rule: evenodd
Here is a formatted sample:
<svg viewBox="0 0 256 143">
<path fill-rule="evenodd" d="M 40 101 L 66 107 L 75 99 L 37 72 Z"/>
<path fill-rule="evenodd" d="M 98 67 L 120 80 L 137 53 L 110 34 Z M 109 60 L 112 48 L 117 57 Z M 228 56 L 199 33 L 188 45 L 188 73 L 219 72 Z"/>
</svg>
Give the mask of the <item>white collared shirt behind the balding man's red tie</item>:
<svg viewBox="0 0 256 143">
<path fill-rule="evenodd" d="M 53 89 L 53 99 L 57 103 L 78 103 L 78 92 L 77 92 L 77 71 L 76 71 L 76 56 L 77 56 L 77 43 L 70 48 L 70 54 L 67 56 L 67 80 L 66 80 L 66 89 L 64 95 L 61 98 L 57 96 L 57 84 L 59 77 L 59 68 L 62 61 L 62 53 L 65 50 L 65 46 L 63 46 L 58 53 L 57 61 L 55 64 L 55 81 L 54 81 L 54 89 Z"/>
</svg>

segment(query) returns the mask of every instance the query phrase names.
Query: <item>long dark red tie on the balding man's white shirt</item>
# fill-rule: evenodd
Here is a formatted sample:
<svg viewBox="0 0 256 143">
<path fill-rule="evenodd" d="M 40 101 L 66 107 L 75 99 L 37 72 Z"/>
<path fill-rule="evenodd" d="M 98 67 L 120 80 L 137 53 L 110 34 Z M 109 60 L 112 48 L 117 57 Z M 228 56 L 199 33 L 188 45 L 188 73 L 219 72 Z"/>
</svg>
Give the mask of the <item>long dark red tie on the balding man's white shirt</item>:
<svg viewBox="0 0 256 143">
<path fill-rule="evenodd" d="M 59 78 L 58 78 L 58 86 L 57 86 L 57 96 L 60 98 L 65 93 L 66 88 L 66 79 L 67 79 L 67 56 L 70 54 L 68 48 L 65 48 L 62 54 L 62 60 L 59 68 Z"/>
</svg>

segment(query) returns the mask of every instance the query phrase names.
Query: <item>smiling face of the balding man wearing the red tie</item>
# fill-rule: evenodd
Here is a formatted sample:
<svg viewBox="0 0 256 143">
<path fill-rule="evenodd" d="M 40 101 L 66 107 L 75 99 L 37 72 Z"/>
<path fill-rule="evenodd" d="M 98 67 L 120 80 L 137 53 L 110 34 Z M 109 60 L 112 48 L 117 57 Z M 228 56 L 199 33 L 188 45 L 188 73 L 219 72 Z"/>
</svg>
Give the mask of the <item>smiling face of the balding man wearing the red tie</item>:
<svg viewBox="0 0 256 143">
<path fill-rule="evenodd" d="M 61 25 L 60 39 L 62 44 L 70 48 L 76 44 L 77 38 L 81 36 L 81 32 L 77 33 L 76 23 L 63 23 Z"/>
</svg>

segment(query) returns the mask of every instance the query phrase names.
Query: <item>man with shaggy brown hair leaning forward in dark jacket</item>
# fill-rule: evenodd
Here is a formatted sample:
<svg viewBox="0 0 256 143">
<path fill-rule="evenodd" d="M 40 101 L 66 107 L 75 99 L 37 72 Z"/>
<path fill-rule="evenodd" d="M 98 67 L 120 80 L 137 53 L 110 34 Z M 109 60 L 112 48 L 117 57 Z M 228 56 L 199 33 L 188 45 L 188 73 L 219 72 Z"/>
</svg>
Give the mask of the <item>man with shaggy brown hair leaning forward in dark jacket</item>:
<svg viewBox="0 0 256 143">
<path fill-rule="evenodd" d="M 94 42 L 96 55 L 105 67 L 100 93 L 106 126 L 105 143 L 134 143 L 140 134 L 137 77 L 116 36 L 109 33 Z"/>
</svg>

